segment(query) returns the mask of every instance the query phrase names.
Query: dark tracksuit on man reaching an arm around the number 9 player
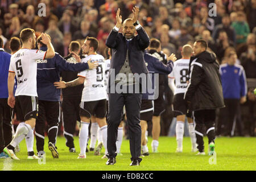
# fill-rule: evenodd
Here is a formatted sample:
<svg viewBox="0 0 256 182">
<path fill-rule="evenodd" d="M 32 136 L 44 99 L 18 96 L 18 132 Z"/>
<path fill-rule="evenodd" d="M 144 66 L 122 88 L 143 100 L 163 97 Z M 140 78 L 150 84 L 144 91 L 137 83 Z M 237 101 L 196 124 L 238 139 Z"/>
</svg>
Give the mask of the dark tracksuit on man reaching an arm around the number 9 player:
<svg viewBox="0 0 256 182">
<path fill-rule="evenodd" d="M 41 47 L 46 51 L 47 47 Z M 53 83 L 60 81 L 61 71 L 83 71 L 88 69 L 87 63 L 68 63 L 59 53 L 55 52 L 52 59 L 38 60 L 37 92 L 38 92 L 38 118 L 36 119 L 36 150 L 44 150 L 44 126 L 47 121 L 49 142 L 56 143 L 60 117 L 60 89 Z"/>
</svg>

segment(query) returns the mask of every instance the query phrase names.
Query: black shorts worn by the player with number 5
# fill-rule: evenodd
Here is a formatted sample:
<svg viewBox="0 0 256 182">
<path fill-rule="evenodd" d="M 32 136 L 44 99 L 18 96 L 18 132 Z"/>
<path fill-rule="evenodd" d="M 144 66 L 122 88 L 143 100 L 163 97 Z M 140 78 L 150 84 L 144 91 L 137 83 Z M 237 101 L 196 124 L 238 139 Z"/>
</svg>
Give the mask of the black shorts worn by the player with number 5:
<svg viewBox="0 0 256 182">
<path fill-rule="evenodd" d="M 38 117 L 38 97 L 16 96 L 14 112 L 18 121 L 23 122 L 28 119 Z"/>
</svg>

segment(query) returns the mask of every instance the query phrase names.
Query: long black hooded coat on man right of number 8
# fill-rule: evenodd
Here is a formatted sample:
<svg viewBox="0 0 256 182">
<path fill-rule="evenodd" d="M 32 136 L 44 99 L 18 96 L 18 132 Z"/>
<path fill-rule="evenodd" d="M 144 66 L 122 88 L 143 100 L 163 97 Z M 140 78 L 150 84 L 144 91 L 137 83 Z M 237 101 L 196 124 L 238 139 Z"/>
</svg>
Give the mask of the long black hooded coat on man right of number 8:
<svg viewBox="0 0 256 182">
<path fill-rule="evenodd" d="M 216 55 L 209 51 L 191 57 L 189 84 L 184 99 L 191 105 L 190 109 L 217 109 L 224 107 L 220 65 Z"/>
</svg>

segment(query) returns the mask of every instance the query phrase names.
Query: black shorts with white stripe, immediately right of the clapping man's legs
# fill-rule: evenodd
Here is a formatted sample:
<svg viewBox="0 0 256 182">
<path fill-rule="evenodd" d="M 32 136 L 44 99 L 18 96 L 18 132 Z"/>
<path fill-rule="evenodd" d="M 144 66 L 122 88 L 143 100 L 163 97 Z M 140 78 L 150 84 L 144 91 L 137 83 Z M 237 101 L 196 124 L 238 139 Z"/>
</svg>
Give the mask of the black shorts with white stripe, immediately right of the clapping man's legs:
<svg viewBox="0 0 256 182">
<path fill-rule="evenodd" d="M 154 114 L 154 101 L 141 100 L 141 120 L 152 121 Z"/>
</svg>

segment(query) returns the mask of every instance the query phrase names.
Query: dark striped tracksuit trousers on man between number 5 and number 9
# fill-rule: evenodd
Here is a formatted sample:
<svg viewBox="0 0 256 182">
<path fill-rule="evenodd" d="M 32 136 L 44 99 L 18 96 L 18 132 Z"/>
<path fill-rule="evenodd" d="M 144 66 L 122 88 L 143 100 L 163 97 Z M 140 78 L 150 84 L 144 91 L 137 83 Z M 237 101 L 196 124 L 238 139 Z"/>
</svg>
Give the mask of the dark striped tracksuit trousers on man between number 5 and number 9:
<svg viewBox="0 0 256 182">
<path fill-rule="evenodd" d="M 54 101 L 38 102 L 38 119 L 36 119 L 35 135 L 36 135 L 36 150 L 44 150 L 44 128 L 46 121 L 48 124 L 49 142 L 56 143 L 60 116 L 60 104 Z"/>
</svg>

